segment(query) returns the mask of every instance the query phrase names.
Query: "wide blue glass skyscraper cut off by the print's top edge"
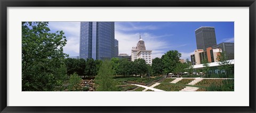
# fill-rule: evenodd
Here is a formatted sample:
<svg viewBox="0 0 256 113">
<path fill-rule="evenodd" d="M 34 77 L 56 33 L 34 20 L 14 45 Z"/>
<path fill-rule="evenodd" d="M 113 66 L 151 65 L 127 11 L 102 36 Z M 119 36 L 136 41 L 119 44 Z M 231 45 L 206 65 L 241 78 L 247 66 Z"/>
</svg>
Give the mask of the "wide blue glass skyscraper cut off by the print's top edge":
<svg viewBox="0 0 256 113">
<path fill-rule="evenodd" d="M 80 58 L 111 59 L 115 56 L 114 22 L 81 22 Z"/>
</svg>

